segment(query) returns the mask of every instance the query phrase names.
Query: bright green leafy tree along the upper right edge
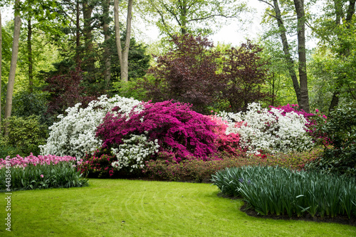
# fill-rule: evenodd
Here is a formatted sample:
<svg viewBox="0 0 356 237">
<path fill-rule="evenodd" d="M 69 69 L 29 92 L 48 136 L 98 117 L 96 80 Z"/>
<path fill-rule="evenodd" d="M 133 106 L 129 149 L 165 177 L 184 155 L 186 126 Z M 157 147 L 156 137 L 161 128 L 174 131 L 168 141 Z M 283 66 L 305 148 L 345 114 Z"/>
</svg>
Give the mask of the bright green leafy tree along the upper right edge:
<svg viewBox="0 0 356 237">
<path fill-rule="evenodd" d="M 320 38 L 320 46 L 330 49 L 329 70 L 335 74 L 333 95 L 329 112 L 339 105 L 341 98 L 354 98 L 352 83 L 355 81 L 355 0 L 325 1 L 324 13 L 315 20 L 313 32 Z M 326 57 L 325 57 L 326 58 Z M 337 63 L 335 63 L 337 62 Z M 348 93 L 345 93 L 348 91 Z"/>
</svg>

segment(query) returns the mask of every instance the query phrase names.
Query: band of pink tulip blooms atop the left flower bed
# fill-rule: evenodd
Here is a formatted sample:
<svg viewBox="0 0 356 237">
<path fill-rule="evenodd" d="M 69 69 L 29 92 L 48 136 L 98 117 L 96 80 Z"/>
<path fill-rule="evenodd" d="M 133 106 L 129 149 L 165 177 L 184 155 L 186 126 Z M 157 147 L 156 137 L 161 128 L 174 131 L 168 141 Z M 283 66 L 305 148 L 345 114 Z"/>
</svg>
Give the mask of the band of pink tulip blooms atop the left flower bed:
<svg viewBox="0 0 356 237">
<path fill-rule="evenodd" d="M 11 164 L 11 167 L 20 167 L 24 168 L 28 164 L 36 165 L 44 165 L 44 164 L 58 164 L 58 162 L 76 162 L 76 164 L 81 164 L 83 159 L 77 162 L 75 157 L 57 157 L 56 155 L 48 154 L 46 156 L 38 155 L 38 157 L 33 156 L 31 153 L 28 157 L 21 157 L 19 154 L 16 157 L 11 158 L 10 156 L 6 157 L 5 159 L 0 159 L 0 169 L 5 167 L 6 163 Z"/>
</svg>

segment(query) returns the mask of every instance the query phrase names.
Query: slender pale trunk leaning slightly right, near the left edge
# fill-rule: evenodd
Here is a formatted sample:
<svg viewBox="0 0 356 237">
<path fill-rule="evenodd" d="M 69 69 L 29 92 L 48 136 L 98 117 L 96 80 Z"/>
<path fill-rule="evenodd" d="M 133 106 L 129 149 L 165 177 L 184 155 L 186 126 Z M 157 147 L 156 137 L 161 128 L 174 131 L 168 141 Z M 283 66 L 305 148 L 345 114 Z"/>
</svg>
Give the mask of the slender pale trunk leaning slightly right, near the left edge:
<svg viewBox="0 0 356 237">
<path fill-rule="evenodd" d="M 21 29 L 21 18 L 19 12 L 19 4 L 20 0 L 15 1 L 15 28 L 14 28 L 14 42 L 12 43 L 12 56 L 11 56 L 11 65 L 10 65 L 10 73 L 9 73 L 9 83 L 7 84 L 7 92 L 6 92 L 6 104 L 5 104 L 5 119 L 11 117 L 11 109 L 12 109 L 12 95 L 14 93 L 14 84 L 15 84 L 15 73 L 16 73 L 16 64 L 17 57 L 19 54 L 19 37 L 20 37 L 20 29 Z M 7 130 L 8 123 L 5 123 L 4 132 L 5 135 L 9 135 Z"/>
</svg>

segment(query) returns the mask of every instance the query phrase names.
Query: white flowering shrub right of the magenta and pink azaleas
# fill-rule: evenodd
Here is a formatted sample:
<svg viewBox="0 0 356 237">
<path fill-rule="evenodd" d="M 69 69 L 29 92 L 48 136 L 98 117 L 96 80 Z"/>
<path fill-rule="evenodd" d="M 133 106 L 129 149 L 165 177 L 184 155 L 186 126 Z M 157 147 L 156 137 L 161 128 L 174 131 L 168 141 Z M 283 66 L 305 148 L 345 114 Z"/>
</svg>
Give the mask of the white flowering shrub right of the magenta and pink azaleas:
<svg viewBox="0 0 356 237">
<path fill-rule="evenodd" d="M 309 149 L 312 139 L 305 131 L 307 121 L 303 115 L 282 110 L 261 108 L 258 103 L 248 105 L 246 112 L 218 114 L 229 123 L 226 135 L 238 133 L 240 145 L 248 149 L 248 153 L 258 154 L 259 151 L 276 153 Z"/>
</svg>

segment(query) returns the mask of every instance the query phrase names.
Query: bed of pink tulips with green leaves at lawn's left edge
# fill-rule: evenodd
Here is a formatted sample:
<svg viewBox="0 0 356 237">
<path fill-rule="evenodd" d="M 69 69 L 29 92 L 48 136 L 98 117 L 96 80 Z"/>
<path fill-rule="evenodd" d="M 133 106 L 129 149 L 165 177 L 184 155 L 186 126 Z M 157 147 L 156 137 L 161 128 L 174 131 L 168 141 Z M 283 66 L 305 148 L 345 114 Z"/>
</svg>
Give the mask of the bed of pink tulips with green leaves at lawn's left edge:
<svg viewBox="0 0 356 237">
<path fill-rule="evenodd" d="M 0 159 L 0 190 L 69 188 L 88 186 L 80 179 L 75 157 L 33 156 Z"/>
</svg>

